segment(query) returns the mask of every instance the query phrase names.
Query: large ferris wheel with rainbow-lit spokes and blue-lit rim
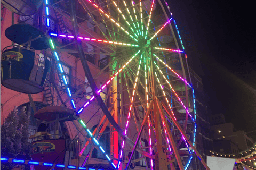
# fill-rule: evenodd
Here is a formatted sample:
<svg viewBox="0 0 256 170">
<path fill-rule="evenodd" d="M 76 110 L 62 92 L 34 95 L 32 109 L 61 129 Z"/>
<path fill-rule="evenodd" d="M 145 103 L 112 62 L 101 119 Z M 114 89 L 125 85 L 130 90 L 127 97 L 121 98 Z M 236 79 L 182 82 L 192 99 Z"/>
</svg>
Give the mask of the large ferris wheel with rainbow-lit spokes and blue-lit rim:
<svg viewBox="0 0 256 170">
<path fill-rule="evenodd" d="M 61 8 L 60 3 L 66 5 L 66 9 L 71 8 L 71 12 Z M 76 16 L 77 8 L 83 8 L 88 15 L 89 28 L 83 27 L 83 15 Z M 46 36 L 67 90 L 68 99 L 63 104 L 70 101 L 95 147 L 105 153 L 99 146 L 100 137 L 96 139 L 83 121 L 86 109 L 97 100 L 105 114 L 97 128 L 103 132 L 105 123 L 110 123 L 111 158 L 106 154 L 109 163 L 114 168 L 126 169 L 134 168 L 138 162 L 150 169 L 169 166 L 175 169 L 175 165 L 188 169 L 196 154 L 209 169 L 195 148 L 194 89 L 187 55 L 167 2 L 78 0 L 75 4 L 74 1 L 46 0 L 47 27 L 50 27 L 47 18 L 50 10 L 60 18 L 69 19 L 69 26 L 72 24 L 73 28 L 73 33 L 62 27 L 59 31 L 49 31 Z M 62 47 L 58 47 L 58 39 L 76 43 L 76 49 L 69 52 L 76 51 L 80 57 L 88 82 L 86 89 L 90 88 L 84 104 L 79 103 L 68 86 L 60 63 Z M 83 43 L 91 47 L 86 46 L 85 50 Z M 95 73 L 87 64 L 90 60 L 84 57 L 87 54 L 98 54 L 98 61 L 105 62 L 101 63 L 100 72 Z M 105 118 L 107 121 L 103 123 Z M 135 159 L 135 154 L 140 157 Z"/>
</svg>

